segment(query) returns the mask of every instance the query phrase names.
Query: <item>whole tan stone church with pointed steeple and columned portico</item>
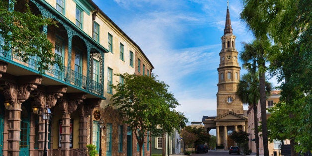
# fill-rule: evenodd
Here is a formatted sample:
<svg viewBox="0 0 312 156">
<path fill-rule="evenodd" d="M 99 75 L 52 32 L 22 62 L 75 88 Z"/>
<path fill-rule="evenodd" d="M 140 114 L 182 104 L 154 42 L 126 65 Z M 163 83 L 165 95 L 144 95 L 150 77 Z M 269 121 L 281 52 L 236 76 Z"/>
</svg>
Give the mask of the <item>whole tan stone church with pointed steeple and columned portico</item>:
<svg viewBox="0 0 312 156">
<path fill-rule="evenodd" d="M 228 150 L 237 144 L 230 139 L 233 131 L 246 131 L 247 117 L 242 102 L 236 96 L 239 82 L 238 52 L 235 49 L 235 36 L 227 8 L 224 35 L 221 37 L 222 49 L 219 53 L 219 82 L 217 92 L 217 116 L 203 116 L 202 122 L 207 129 L 216 129 L 217 146 Z"/>
</svg>

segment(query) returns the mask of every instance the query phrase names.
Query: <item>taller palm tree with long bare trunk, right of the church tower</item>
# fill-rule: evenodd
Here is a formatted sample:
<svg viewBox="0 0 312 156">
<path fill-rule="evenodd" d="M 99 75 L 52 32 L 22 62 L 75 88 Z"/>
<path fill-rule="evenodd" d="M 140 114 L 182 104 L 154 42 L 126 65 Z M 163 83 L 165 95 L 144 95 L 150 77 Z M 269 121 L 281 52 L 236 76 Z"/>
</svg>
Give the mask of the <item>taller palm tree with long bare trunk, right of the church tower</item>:
<svg viewBox="0 0 312 156">
<path fill-rule="evenodd" d="M 252 43 L 243 43 L 243 52 L 240 53 L 240 59 L 243 62 L 243 68 L 251 74 L 259 74 L 259 93 L 260 93 L 260 110 L 261 110 L 261 127 L 264 156 L 269 156 L 268 149 L 268 131 L 266 120 L 266 88 L 265 72 L 267 67 L 267 49 L 270 47 L 268 40 L 255 39 Z"/>
</svg>

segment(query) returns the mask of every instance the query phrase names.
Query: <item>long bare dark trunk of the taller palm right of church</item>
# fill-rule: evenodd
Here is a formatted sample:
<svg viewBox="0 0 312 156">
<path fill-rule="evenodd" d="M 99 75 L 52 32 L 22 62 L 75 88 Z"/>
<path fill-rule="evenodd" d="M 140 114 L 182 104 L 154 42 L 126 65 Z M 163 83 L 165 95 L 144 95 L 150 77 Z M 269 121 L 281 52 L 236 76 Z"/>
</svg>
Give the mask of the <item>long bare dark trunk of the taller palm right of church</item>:
<svg viewBox="0 0 312 156">
<path fill-rule="evenodd" d="M 263 67 L 265 67 L 263 65 Z M 269 156 L 268 149 L 268 129 L 266 120 L 266 94 L 265 94 L 265 73 L 259 73 L 260 84 L 260 109 L 261 109 L 261 126 L 262 126 L 262 139 L 263 139 L 263 152 L 264 156 Z"/>
</svg>

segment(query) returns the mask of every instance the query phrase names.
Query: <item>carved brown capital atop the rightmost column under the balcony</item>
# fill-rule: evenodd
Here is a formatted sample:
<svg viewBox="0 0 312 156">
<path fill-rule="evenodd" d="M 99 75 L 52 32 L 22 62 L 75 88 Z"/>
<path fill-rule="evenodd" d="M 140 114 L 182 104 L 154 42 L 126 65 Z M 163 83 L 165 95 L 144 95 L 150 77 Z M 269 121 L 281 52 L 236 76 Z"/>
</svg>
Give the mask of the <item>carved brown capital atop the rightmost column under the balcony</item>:
<svg viewBox="0 0 312 156">
<path fill-rule="evenodd" d="M 80 115 L 83 117 L 88 117 L 91 115 L 93 109 L 100 105 L 101 99 L 100 98 L 88 98 L 85 99 L 83 103 L 79 105 Z"/>
</svg>

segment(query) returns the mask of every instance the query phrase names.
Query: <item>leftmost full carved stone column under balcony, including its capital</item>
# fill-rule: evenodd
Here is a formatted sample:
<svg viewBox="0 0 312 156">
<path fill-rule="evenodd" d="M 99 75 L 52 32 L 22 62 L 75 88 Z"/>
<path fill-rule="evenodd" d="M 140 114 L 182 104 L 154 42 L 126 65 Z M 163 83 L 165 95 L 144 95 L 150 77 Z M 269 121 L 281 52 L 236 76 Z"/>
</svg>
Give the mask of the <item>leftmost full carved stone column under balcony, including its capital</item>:
<svg viewBox="0 0 312 156">
<path fill-rule="evenodd" d="M 8 79 L 8 78 L 3 78 Z M 29 98 L 30 92 L 37 88 L 41 83 L 40 76 L 21 76 L 17 78 L 17 83 L 12 82 L 13 79 L 9 78 L 4 81 L 3 95 L 9 101 L 9 118 L 8 118 L 8 156 L 19 155 L 19 142 L 20 142 L 20 114 L 21 104 Z"/>
</svg>

